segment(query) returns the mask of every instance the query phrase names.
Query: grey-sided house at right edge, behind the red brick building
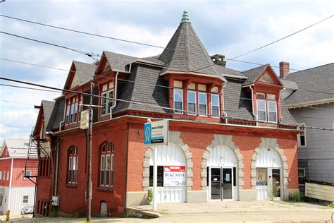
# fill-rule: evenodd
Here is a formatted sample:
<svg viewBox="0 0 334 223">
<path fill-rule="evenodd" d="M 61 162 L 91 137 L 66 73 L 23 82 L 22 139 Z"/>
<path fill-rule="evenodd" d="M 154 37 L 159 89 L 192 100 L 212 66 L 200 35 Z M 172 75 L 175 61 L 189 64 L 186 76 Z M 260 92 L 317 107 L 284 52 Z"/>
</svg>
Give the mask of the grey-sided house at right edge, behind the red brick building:
<svg viewBox="0 0 334 223">
<path fill-rule="evenodd" d="M 287 85 L 285 104 L 300 126 L 334 128 L 334 63 L 289 73 L 283 62 L 280 77 Z M 304 179 L 334 186 L 334 131 L 303 130 L 297 135 L 300 190 Z"/>
</svg>

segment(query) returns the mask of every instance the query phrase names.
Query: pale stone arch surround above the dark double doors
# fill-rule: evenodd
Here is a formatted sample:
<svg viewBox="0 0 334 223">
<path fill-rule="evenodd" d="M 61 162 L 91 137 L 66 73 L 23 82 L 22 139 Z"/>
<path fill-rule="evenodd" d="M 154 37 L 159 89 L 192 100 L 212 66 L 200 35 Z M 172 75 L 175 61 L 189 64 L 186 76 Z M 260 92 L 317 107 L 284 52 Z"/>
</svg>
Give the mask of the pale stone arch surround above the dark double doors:
<svg viewBox="0 0 334 223">
<path fill-rule="evenodd" d="M 239 187 L 240 190 L 242 190 L 242 186 L 244 186 L 244 163 L 243 159 L 244 157 L 242 156 L 240 149 L 234 145 L 234 142 L 232 140 L 233 135 L 214 135 L 214 140 L 211 142 L 210 145 L 206 147 L 206 150 L 203 154 L 203 159 L 202 159 L 202 189 L 206 189 L 206 178 L 207 178 L 207 173 L 206 173 L 206 167 L 208 167 L 208 159 L 210 152 L 214 150 L 214 147 L 217 145 L 225 145 L 229 147 L 231 150 L 235 152 L 235 155 L 237 156 L 237 186 Z M 239 190 L 238 190 L 239 191 Z"/>
</svg>

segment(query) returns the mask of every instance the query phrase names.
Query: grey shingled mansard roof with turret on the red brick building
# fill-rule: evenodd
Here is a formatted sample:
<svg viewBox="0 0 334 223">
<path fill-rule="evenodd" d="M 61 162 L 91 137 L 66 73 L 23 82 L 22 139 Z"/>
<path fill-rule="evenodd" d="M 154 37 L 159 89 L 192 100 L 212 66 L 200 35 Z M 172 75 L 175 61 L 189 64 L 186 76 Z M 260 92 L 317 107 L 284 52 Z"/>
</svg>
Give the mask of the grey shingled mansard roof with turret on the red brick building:
<svg viewBox="0 0 334 223">
<path fill-rule="evenodd" d="M 140 59 L 135 56 L 106 51 L 104 51 L 104 54 L 113 71 L 128 72 L 129 64 Z M 128 109 L 136 111 L 153 111 L 165 114 L 173 113 L 173 110 L 171 109 L 162 108 L 170 107 L 170 104 L 168 99 L 169 88 L 163 88 L 163 86 L 168 87 L 168 81 L 163 79 L 161 73 L 171 71 L 171 68 L 173 68 L 173 71 L 194 71 L 202 68 L 195 72 L 205 73 L 219 78 L 223 78 L 224 74 L 247 77 L 247 80 L 235 80 L 235 78 L 225 77 L 228 82 L 226 82 L 224 88 L 224 106 L 225 112 L 231 118 L 246 119 L 250 121 L 254 120 L 254 116 L 252 115 L 251 95 L 242 88 L 242 85 L 253 83 L 268 65 L 240 72 L 214 64 L 211 57 L 206 52 L 206 49 L 204 49 L 202 42 L 194 32 L 191 23 L 180 23 L 162 54 L 141 59 L 154 62 L 161 66 L 168 66 L 169 68 L 151 66 L 149 64 L 132 64 L 130 73 L 124 77 L 130 81 L 118 80 L 117 98 L 144 104 L 118 101 L 115 109 L 113 109 L 113 113 Z M 293 85 L 293 83 L 290 82 L 285 83 L 286 85 Z M 94 98 L 94 103 L 97 102 L 98 99 Z M 283 102 L 281 103 L 281 116 L 283 116 L 281 123 L 295 125 L 295 121 L 286 109 L 285 104 Z M 54 104 L 54 110 L 52 111 L 50 118 L 50 120 L 53 121 L 49 121 L 48 129 L 58 128 L 59 123 L 63 121 L 64 104 L 63 97 L 58 99 Z M 94 112 L 93 114 L 94 116 L 98 115 L 97 112 Z M 97 119 L 93 119 L 93 121 L 94 120 L 96 121 Z"/>
</svg>

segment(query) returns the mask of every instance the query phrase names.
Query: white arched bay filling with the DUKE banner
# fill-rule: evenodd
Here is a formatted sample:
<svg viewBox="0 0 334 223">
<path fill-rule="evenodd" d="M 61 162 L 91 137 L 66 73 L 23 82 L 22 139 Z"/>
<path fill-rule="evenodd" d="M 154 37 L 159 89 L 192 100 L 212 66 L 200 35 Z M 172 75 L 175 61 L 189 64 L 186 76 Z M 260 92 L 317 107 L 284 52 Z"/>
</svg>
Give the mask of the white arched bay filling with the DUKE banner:
<svg viewBox="0 0 334 223">
<path fill-rule="evenodd" d="M 168 143 L 158 149 L 157 203 L 182 203 L 186 194 L 186 157 L 179 145 Z M 149 158 L 149 186 L 153 186 L 153 152 Z M 183 183 L 180 183 L 183 182 Z"/>
</svg>

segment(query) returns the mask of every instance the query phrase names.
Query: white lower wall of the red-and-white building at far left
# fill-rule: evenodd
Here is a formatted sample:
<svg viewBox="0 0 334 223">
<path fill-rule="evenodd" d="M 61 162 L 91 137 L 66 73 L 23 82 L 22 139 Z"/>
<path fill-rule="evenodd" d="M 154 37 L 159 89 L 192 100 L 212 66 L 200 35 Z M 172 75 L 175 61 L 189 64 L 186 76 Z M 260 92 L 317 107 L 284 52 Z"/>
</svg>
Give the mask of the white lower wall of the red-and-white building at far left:
<svg viewBox="0 0 334 223">
<path fill-rule="evenodd" d="M 27 204 L 23 204 L 23 196 L 28 195 L 29 200 Z M 26 187 L 12 187 L 11 188 L 11 198 L 10 207 L 11 215 L 19 215 L 22 207 L 26 205 L 34 205 L 35 198 L 35 186 Z"/>
</svg>

